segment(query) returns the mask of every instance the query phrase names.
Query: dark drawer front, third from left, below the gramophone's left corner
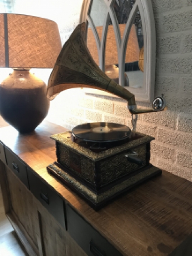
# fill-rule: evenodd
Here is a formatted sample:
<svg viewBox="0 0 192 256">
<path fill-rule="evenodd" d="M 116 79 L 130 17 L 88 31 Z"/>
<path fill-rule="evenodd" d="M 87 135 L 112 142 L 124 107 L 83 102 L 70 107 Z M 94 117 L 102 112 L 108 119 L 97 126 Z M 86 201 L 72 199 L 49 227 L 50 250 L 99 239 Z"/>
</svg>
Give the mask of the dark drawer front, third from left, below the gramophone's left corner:
<svg viewBox="0 0 192 256">
<path fill-rule="evenodd" d="M 65 228 L 63 199 L 28 168 L 30 191 L 53 217 Z"/>
</svg>

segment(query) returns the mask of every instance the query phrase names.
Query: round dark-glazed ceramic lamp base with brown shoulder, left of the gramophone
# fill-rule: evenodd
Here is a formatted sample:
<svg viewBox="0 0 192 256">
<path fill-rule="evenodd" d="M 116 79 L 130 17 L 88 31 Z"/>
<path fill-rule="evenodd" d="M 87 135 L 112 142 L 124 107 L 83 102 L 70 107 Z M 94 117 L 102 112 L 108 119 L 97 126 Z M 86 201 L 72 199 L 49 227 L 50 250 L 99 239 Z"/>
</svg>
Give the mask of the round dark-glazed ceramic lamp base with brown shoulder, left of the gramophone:
<svg viewBox="0 0 192 256">
<path fill-rule="evenodd" d="M 31 133 L 48 113 L 46 84 L 29 70 L 14 69 L 0 84 L 0 114 L 20 133 Z"/>
</svg>

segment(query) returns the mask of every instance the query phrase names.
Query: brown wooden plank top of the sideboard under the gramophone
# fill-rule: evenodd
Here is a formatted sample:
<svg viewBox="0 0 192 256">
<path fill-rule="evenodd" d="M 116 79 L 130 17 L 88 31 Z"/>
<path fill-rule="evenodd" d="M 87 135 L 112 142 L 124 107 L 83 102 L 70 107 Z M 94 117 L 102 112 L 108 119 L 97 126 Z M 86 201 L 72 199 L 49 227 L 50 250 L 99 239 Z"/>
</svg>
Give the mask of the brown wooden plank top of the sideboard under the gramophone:
<svg viewBox="0 0 192 256">
<path fill-rule="evenodd" d="M 0 129 L 0 141 L 123 255 L 169 255 L 192 233 L 192 183 L 166 171 L 94 211 L 46 171 L 46 166 L 56 161 L 55 141 L 50 136 L 64 131 L 65 128 L 47 121 L 30 135 L 20 135 L 8 126 Z"/>
</svg>

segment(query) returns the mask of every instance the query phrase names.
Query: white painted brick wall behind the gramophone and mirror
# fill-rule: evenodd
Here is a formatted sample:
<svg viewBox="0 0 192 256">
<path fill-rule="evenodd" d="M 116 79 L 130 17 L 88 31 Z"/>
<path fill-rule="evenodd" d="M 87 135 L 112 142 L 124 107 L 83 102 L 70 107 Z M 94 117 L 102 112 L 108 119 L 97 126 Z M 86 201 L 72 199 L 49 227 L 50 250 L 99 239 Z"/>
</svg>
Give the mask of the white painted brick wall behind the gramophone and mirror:
<svg viewBox="0 0 192 256">
<path fill-rule="evenodd" d="M 139 115 L 137 131 L 156 138 L 151 143 L 151 163 L 192 181 L 192 0 L 152 0 L 152 4 L 157 31 L 155 95 L 164 94 L 168 110 Z M 67 99 L 63 94 L 63 102 L 54 101 L 50 113 L 54 116 L 59 109 L 60 123 L 69 129 L 86 121 L 131 126 L 126 102 L 118 98 L 71 90 Z"/>
</svg>

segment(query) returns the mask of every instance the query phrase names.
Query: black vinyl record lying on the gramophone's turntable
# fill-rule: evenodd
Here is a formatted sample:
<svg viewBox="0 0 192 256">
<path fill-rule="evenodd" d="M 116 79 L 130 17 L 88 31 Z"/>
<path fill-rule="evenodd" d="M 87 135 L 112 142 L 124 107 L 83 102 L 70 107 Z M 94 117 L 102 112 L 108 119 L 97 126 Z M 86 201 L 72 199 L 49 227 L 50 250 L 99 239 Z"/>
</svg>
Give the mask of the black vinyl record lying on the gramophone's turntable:
<svg viewBox="0 0 192 256">
<path fill-rule="evenodd" d="M 78 125 L 72 133 L 81 140 L 104 143 L 124 140 L 130 135 L 131 129 L 118 123 L 96 122 Z"/>
</svg>

